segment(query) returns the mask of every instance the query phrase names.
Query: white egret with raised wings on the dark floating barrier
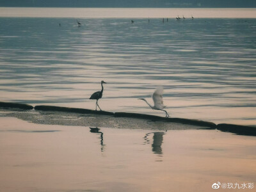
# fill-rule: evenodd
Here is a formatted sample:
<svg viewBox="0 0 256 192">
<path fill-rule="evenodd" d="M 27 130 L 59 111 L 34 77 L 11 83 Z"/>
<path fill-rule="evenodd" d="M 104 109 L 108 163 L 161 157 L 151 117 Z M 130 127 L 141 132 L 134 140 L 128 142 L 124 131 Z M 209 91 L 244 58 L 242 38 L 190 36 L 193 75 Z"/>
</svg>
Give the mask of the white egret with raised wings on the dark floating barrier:
<svg viewBox="0 0 256 192">
<path fill-rule="evenodd" d="M 164 93 L 163 87 L 156 88 L 155 92 L 152 95 L 152 99 L 154 101 L 154 106 L 149 104 L 146 99 L 141 98 L 141 100 L 144 100 L 148 104 L 148 106 L 150 106 L 151 109 L 164 111 L 165 115 L 166 115 L 165 117 L 169 117 L 169 114 L 167 113 L 167 111 L 164 110 L 164 108 L 166 108 L 166 106 L 164 106 L 164 104 L 163 104 L 163 93 Z"/>
</svg>

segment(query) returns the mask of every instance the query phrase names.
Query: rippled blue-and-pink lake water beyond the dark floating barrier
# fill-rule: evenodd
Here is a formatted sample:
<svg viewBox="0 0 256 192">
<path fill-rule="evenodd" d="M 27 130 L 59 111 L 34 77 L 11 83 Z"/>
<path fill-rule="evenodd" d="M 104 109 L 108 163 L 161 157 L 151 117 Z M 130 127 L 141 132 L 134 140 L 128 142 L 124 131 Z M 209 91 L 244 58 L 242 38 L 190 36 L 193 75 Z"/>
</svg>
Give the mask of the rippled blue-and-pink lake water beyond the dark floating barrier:
<svg viewBox="0 0 256 192">
<path fill-rule="evenodd" d="M 237 14 L 225 19 L 198 18 L 209 15 L 207 9 L 176 10 L 166 15 L 168 22 L 161 14 L 148 22 L 145 12 L 124 18 L 122 9 L 105 19 L 86 17 L 83 9 L 48 9 L 49 15 L 36 9 L 36 15 L 30 8 L 29 17 L 16 8 L 3 17 L 6 9 L 0 17 L 1 101 L 94 109 L 88 98 L 104 80 L 99 105 L 106 111 L 164 116 L 138 100 L 152 102 L 154 89 L 163 86 L 172 117 L 256 125 L 256 19 L 234 19 L 252 11 L 255 18 L 255 9 L 231 9 Z M 226 11 L 211 10 L 223 17 Z M 188 18 L 175 20 L 178 14 Z"/>
</svg>

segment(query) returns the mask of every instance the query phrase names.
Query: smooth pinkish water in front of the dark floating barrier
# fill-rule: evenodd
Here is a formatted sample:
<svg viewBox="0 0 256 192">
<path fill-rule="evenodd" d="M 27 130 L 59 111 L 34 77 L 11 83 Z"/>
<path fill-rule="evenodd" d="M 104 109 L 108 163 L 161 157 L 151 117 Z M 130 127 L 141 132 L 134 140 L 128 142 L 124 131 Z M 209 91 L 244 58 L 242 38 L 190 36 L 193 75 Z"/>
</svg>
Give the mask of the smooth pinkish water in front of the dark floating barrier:
<svg viewBox="0 0 256 192">
<path fill-rule="evenodd" d="M 254 182 L 255 188 L 253 136 L 216 130 L 93 131 L 1 116 L 0 122 L 2 191 L 191 192 L 211 191 L 215 182 Z"/>
</svg>

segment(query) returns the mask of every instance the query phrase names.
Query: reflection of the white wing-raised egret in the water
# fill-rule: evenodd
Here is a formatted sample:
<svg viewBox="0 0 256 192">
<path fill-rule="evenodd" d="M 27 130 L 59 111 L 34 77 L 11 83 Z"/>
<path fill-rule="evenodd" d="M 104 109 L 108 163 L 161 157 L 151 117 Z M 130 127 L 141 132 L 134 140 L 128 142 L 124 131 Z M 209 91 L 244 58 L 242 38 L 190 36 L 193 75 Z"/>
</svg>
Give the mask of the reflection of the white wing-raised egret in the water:
<svg viewBox="0 0 256 192">
<path fill-rule="evenodd" d="M 145 144 L 149 144 L 150 140 L 148 139 L 148 136 L 150 136 L 150 134 L 153 134 L 153 143 L 152 143 L 152 152 L 154 152 L 154 154 L 163 154 L 162 152 L 162 143 L 163 143 L 163 135 L 164 132 L 148 132 L 145 137 Z"/>
</svg>

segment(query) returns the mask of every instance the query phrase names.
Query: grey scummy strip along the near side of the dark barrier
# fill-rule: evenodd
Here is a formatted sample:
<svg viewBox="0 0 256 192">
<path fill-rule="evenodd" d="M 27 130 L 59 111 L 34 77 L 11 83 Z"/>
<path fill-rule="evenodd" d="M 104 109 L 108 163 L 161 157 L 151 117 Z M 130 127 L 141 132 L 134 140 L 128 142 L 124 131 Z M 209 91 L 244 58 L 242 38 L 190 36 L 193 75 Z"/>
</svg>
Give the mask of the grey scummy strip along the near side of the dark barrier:
<svg viewBox="0 0 256 192">
<path fill-rule="evenodd" d="M 1 110 L 3 116 L 13 116 L 35 124 L 74 125 L 90 127 L 112 127 L 117 129 L 198 129 L 194 125 L 173 122 L 152 121 L 147 119 L 119 117 L 97 114 L 67 113 L 61 111 L 11 111 Z M 205 127 L 207 128 L 207 127 Z"/>
</svg>

